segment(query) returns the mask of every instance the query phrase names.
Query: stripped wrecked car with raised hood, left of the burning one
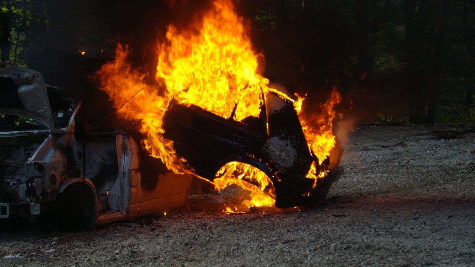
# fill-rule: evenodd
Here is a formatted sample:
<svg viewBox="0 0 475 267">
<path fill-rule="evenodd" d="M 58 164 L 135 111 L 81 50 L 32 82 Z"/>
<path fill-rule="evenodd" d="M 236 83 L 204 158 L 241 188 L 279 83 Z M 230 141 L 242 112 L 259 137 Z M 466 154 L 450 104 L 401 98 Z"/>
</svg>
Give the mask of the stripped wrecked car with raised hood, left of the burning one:
<svg viewBox="0 0 475 267">
<path fill-rule="evenodd" d="M 81 228 L 186 204 L 191 178 L 122 128 L 84 122 L 81 101 L 39 72 L 0 61 L 0 219 L 59 210 Z"/>
</svg>

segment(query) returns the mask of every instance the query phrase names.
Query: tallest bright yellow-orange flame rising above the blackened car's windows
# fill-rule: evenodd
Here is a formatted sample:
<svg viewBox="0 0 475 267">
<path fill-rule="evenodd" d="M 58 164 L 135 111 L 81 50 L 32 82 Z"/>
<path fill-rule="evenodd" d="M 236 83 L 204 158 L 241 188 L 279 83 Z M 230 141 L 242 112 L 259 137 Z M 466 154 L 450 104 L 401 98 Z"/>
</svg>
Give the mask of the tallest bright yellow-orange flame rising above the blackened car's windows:
<svg viewBox="0 0 475 267">
<path fill-rule="evenodd" d="M 194 104 L 229 118 L 236 104 L 236 120 L 259 115 L 260 87 L 269 82 L 259 75 L 257 56 L 242 18 L 229 0 L 214 3 L 203 18 L 199 34 L 178 32 L 170 25 L 161 45 L 157 78 L 180 103 Z"/>
</svg>

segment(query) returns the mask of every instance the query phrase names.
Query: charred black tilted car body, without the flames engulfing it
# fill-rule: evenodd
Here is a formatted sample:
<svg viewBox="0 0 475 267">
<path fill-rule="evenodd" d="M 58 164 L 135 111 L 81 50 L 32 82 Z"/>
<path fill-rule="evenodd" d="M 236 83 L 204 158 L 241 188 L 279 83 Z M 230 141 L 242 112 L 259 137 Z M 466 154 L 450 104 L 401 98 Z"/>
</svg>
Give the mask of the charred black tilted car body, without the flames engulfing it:
<svg viewBox="0 0 475 267">
<path fill-rule="evenodd" d="M 279 84 L 271 87 L 289 95 Z M 321 163 L 309 146 L 292 102 L 269 91 L 262 97 L 258 117 L 241 121 L 218 116 L 195 105 L 173 102 L 164 118 L 164 137 L 197 175 L 213 180 L 230 162 L 249 164 L 272 181 L 276 207 L 316 204 L 343 173 L 339 142 Z M 235 106 L 236 110 L 236 106 Z M 327 171 L 317 182 L 307 178 L 311 165 Z"/>
</svg>

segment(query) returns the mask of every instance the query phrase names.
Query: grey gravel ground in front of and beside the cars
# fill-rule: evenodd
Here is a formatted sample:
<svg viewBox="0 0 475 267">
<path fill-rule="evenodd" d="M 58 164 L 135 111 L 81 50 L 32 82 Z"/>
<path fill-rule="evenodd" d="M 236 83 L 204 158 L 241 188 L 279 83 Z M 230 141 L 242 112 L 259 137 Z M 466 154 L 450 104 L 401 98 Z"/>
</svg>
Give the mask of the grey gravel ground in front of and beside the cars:
<svg viewBox="0 0 475 267">
<path fill-rule="evenodd" d="M 475 266 L 475 133 L 360 127 L 321 207 L 224 214 L 222 194 L 91 231 L 3 228 L 0 266 Z"/>
</svg>

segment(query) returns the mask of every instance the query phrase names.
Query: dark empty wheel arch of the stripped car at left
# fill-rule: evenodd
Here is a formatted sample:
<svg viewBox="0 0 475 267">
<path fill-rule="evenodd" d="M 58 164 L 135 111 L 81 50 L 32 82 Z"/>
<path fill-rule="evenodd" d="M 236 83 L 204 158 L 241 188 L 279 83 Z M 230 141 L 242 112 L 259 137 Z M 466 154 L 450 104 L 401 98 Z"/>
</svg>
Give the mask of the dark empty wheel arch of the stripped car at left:
<svg viewBox="0 0 475 267">
<path fill-rule="evenodd" d="M 84 182 L 70 184 L 58 195 L 62 224 L 73 230 L 92 229 L 97 220 L 97 197 Z"/>
</svg>

